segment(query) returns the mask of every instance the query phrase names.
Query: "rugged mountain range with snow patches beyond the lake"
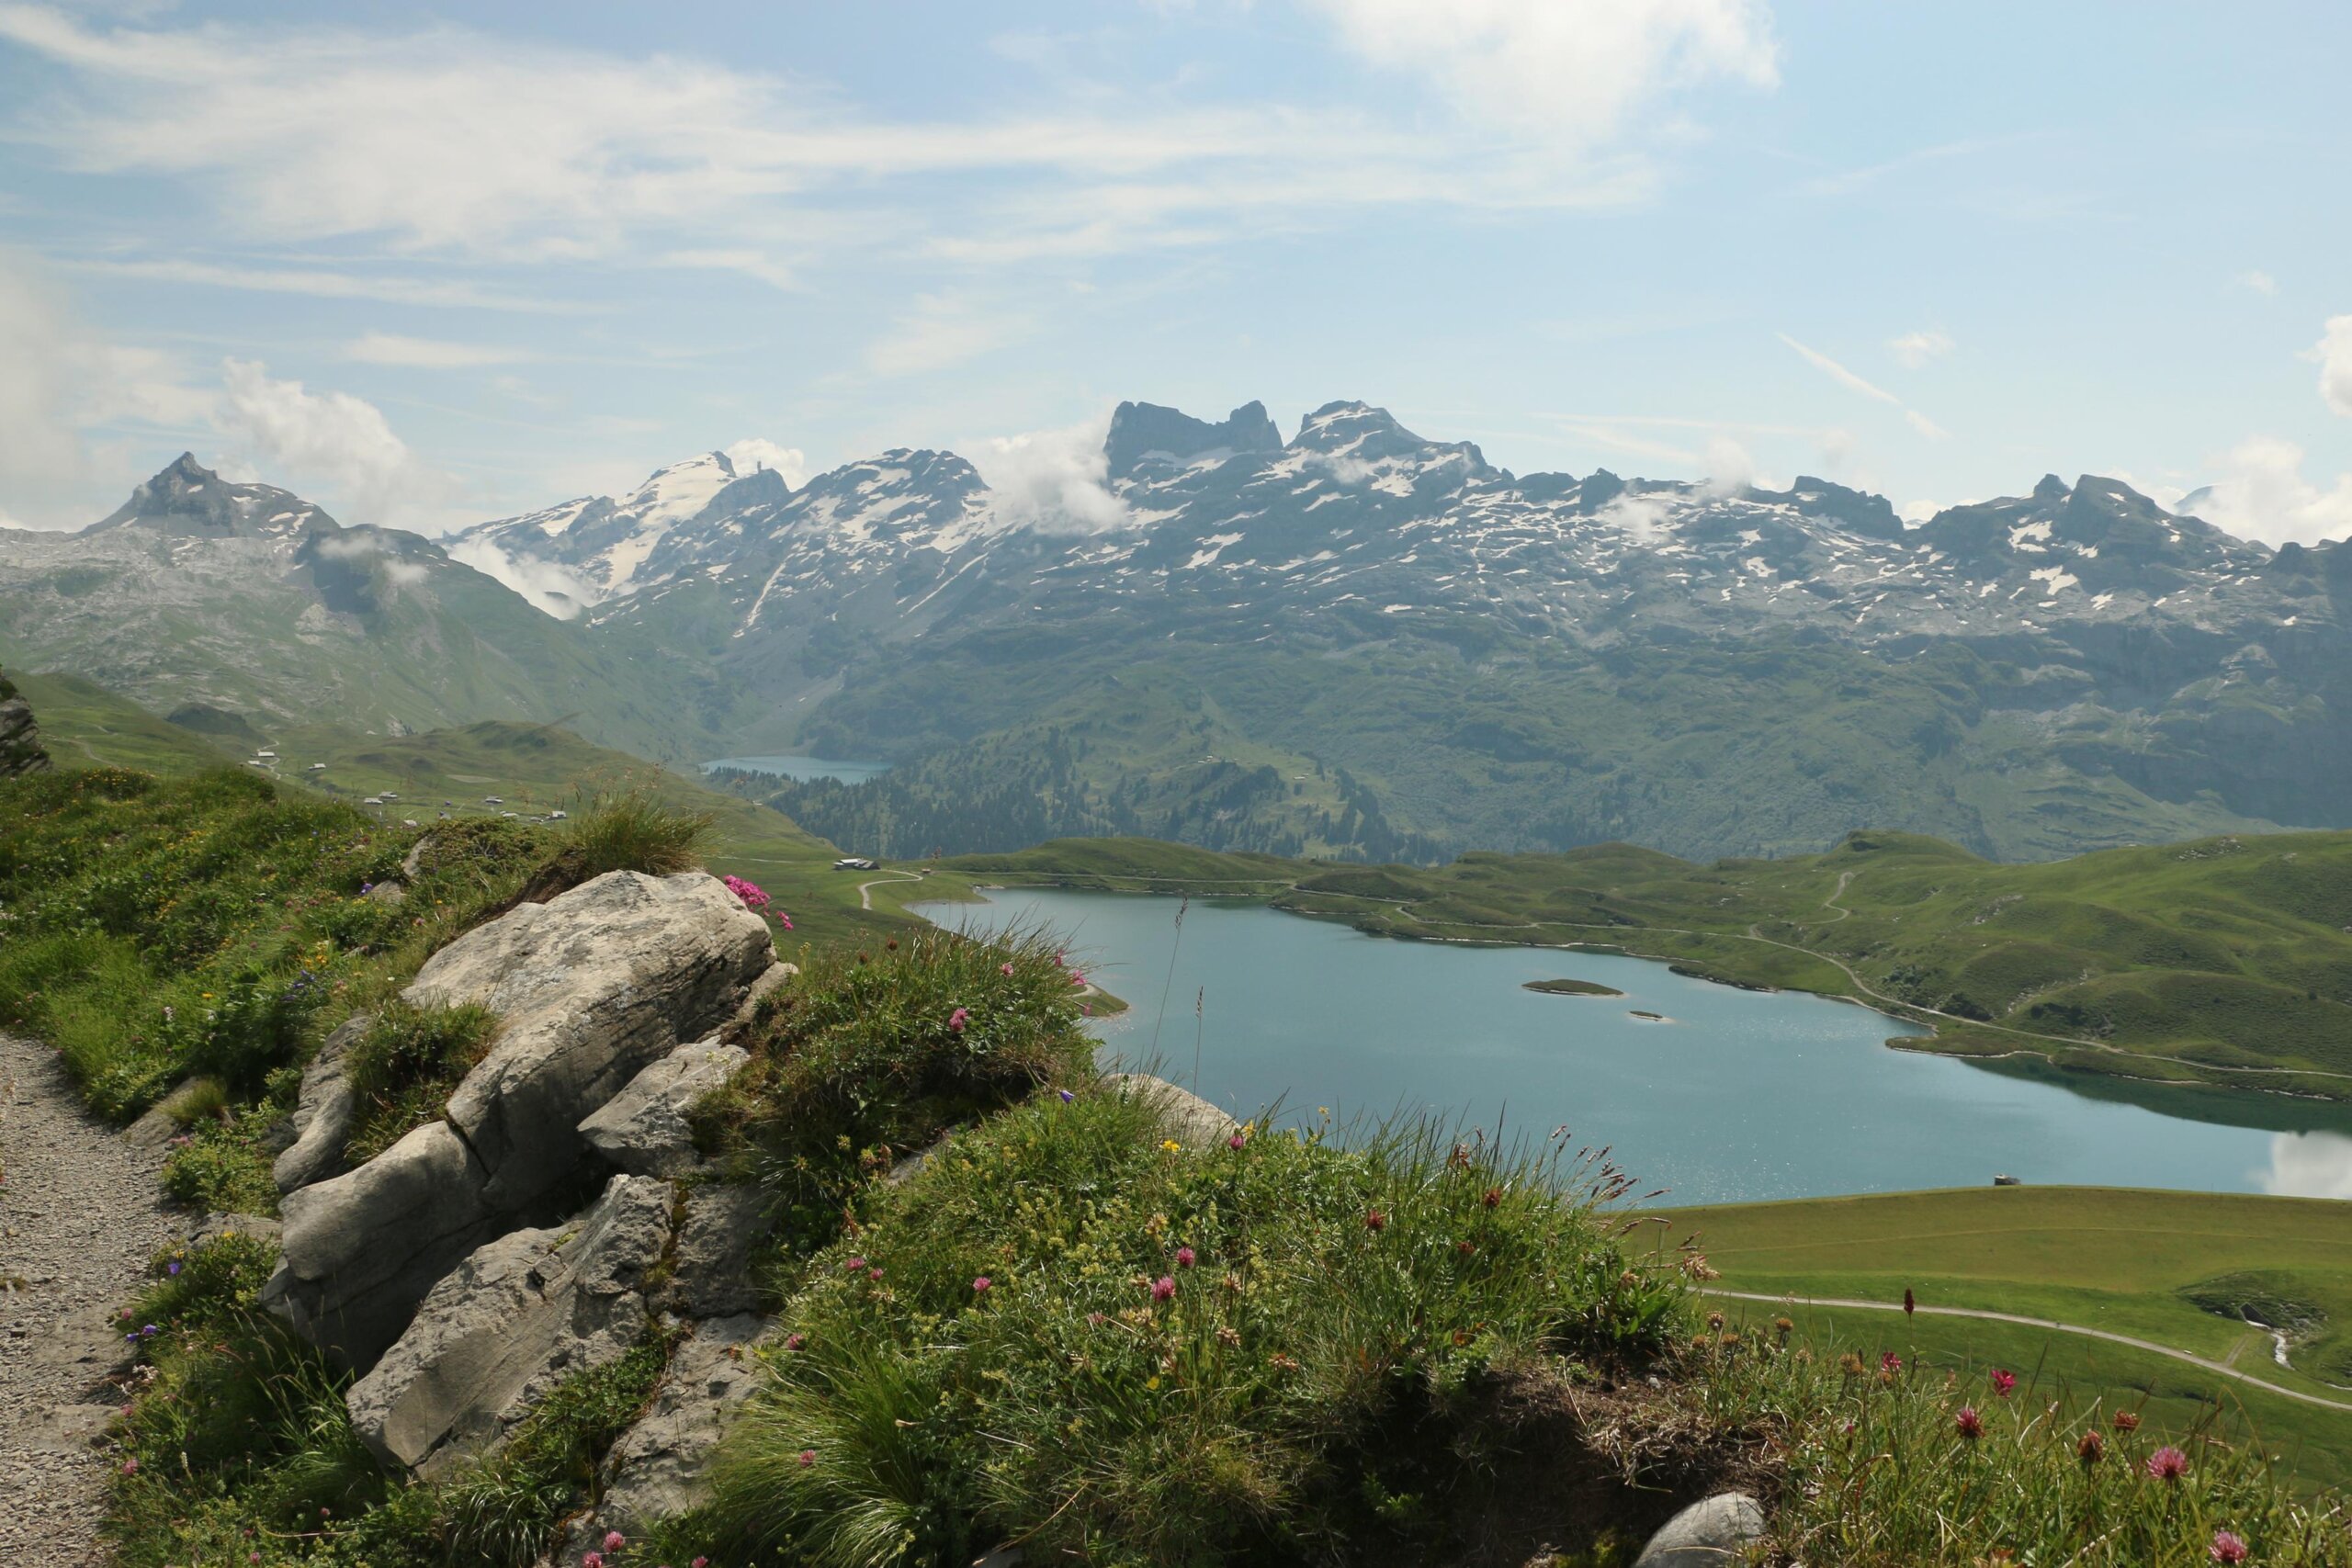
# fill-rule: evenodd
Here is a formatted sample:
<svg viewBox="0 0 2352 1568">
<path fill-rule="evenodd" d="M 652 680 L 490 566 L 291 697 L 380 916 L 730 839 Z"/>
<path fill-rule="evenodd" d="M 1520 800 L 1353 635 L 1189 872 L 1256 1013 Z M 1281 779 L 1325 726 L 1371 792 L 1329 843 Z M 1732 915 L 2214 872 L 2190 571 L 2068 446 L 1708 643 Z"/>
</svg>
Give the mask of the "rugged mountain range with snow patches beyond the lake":
<svg viewBox="0 0 2352 1568">
<path fill-rule="evenodd" d="M 181 458 L 82 534 L 0 531 L 0 658 L 259 719 L 891 762 L 739 780 L 880 853 L 1752 856 L 1877 825 L 2046 858 L 2352 825 L 2352 548 L 2114 480 L 1912 527 L 1813 477 L 1512 475 L 1362 402 L 1289 440 L 1261 404 L 1129 402 L 1101 489 L 1082 524 L 948 451 L 800 487 L 706 454 L 437 545 Z"/>
</svg>

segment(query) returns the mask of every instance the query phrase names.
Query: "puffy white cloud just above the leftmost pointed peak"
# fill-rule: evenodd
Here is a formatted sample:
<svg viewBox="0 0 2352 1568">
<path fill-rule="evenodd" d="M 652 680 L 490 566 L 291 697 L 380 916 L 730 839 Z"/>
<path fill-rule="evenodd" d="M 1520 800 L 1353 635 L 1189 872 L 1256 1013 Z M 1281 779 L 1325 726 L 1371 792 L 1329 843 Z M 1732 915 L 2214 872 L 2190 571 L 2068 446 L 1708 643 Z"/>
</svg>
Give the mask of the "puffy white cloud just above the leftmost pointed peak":
<svg viewBox="0 0 2352 1568">
<path fill-rule="evenodd" d="M 454 482 L 409 451 L 376 404 L 350 393 L 310 393 L 273 381 L 256 360 L 221 362 L 216 428 L 242 442 L 278 484 L 322 480 L 346 522 L 386 522 L 400 510 L 447 501 Z"/>
</svg>

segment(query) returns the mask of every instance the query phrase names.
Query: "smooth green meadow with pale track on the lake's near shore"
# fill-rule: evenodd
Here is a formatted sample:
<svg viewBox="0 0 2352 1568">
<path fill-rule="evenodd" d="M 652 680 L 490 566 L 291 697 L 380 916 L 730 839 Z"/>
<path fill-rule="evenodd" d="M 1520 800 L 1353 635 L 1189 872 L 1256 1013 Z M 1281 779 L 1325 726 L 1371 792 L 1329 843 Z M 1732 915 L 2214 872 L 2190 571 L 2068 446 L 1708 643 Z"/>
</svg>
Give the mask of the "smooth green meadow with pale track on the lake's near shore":
<svg viewBox="0 0 2352 1568">
<path fill-rule="evenodd" d="M 1677 1208 L 1661 1241 L 1696 1237 L 1717 1291 L 1797 1305 L 1863 1300 L 1973 1307 L 2150 1340 L 2265 1382 L 2352 1406 L 2352 1204 L 2117 1187 L 1969 1187 L 1792 1204 Z M 1724 1302 L 1726 1316 L 1771 1305 Z M 2249 1321 L 2251 1319 L 2251 1321 Z M 1804 1324 L 1846 1345 L 2042 1368 L 2077 1389 L 2145 1396 L 2173 1425 L 2194 1406 L 2244 1406 L 2303 1469 L 2352 1479 L 2352 1408 L 2281 1399 L 2206 1368 L 2114 1342 L 1922 1314 L 1910 1321 L 1811 1307 Z M 2286 1363 L 2265 1324 L 2286 1335 Z"/>
</svg>

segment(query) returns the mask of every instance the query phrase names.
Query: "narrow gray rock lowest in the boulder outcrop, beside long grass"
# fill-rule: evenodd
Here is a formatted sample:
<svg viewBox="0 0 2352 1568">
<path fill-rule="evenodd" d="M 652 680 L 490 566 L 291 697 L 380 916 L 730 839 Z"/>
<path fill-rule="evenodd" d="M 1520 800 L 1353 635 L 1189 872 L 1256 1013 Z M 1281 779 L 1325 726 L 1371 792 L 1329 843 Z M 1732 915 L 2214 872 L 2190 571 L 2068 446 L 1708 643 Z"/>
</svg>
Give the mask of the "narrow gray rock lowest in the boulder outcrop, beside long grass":
<svg viewBox="0 0 2352 1568">
<path fill-rule="evenodd" d="M 593 1514 L 597 1535 L 635 1535 L 656 1519 L 706 1502 L 703 1469 L 757 1387 L 760 1361 L 753 1345 L 769 1328 L 774 1319 L 757 1314 L 708 1319 L 670 1352 L 670 1371 L 654 1403 L 604 1458 L 604 1495 Z"/>
</svg>

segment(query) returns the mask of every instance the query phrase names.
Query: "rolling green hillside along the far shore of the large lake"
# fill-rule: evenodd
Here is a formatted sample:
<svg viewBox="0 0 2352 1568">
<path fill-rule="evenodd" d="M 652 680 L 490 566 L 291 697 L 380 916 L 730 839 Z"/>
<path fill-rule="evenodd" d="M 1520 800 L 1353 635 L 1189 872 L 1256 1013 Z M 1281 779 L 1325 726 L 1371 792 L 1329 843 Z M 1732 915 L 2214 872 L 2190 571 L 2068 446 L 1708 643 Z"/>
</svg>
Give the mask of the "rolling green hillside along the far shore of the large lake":
<svg viewBox="0 0 2352 1568">
<path fill-rule="evenodd" d="M 967 879 L 1261 893 L 1364 931 L 1602 947 L 1738 985 L 1870 1001 L 1898 1041 L 2013 1070 L 2352 1098 L 2352 832 L 1999 865 L 1917 835 L 1693 865 L 1630 844 L 1444 867 L 1058 842 Z M 1279 882 L 1277 882 L 1279 879 Z"/>
</svg>

